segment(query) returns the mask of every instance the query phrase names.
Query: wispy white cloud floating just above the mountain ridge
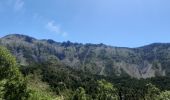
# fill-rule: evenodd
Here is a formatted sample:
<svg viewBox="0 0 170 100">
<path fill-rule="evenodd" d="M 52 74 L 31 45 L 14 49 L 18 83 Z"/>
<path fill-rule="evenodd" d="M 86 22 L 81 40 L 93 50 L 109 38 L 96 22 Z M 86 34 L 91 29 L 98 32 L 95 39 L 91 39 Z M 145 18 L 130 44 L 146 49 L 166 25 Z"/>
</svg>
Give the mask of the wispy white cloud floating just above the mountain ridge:
<svg viewBox="0 0 170 100">
<path fill-rule="evenodd" d="M 46 25 L 46 28 L 50 31 L 50 32 L 53 32 L 53 33 L 56 33 L 56 34 L 59 34 L 63 37 L 66 37 L 68 34 L 67 32 L 63 31 L 61 28 L 60 28 L 60 25 L 57 25 L 55 24 L 55 21 L 49 21 Z"/>
</svg>

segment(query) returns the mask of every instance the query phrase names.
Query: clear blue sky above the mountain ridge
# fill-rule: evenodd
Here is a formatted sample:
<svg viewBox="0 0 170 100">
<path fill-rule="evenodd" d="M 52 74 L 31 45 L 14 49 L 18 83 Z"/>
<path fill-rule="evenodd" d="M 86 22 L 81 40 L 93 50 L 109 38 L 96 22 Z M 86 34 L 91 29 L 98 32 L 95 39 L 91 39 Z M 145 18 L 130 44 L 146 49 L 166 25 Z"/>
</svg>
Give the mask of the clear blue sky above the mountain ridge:
<svg viewBox="0 0 170 100">
<path fill-rule="evenodd" d="M 170 43 L 170 0 L 0 0 L 0 29 L 58 42 Z"/>
</svg>

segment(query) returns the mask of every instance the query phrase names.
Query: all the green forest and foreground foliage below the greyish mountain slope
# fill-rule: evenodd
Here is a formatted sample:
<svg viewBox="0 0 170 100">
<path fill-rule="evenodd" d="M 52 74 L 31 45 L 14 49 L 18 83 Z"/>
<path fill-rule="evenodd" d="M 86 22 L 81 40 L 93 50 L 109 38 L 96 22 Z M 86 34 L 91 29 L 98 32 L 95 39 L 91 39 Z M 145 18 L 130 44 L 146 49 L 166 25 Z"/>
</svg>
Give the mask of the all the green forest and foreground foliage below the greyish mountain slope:
<svg viewBox="0 0 170 100">
<path fill-rule="evenodd" d="M 21 66 L 0 47 L 0 100 L 169 100 L 170 77 L 106 77 L 54 58 Z"/>
</svg>

